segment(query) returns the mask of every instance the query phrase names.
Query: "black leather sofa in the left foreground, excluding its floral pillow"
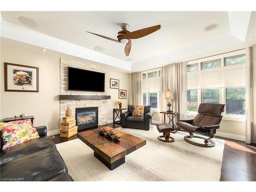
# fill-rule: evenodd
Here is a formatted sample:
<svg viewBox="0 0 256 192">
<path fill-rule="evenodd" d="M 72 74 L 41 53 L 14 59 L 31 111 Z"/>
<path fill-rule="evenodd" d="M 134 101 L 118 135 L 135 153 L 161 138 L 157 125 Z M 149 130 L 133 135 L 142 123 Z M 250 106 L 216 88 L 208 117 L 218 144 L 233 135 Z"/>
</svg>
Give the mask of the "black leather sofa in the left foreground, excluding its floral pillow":
<svg viewBox="0 0 256 192">
<path fill-rule="evenodd" d="M 0 154 L 0 181 L 73 181 L 47 127 L 35 127 L 40 138 L 10 147 Z M 1 142 L 2 143 L 2 142 Z"/>
</svg>

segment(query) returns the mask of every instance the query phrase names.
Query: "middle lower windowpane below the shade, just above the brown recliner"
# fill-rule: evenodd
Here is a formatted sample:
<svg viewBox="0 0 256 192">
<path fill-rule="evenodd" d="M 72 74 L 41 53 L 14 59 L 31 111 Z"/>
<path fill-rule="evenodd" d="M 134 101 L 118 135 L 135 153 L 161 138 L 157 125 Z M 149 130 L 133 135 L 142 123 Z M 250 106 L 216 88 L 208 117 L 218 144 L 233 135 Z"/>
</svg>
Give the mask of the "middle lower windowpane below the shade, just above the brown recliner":
<svg viewBox="0 0 256 192">
<path fill-rule="evenodd" d="M 203 103 L 220 103 L 220 89 L 203 89 L 201 93 Z"/>
</svg>

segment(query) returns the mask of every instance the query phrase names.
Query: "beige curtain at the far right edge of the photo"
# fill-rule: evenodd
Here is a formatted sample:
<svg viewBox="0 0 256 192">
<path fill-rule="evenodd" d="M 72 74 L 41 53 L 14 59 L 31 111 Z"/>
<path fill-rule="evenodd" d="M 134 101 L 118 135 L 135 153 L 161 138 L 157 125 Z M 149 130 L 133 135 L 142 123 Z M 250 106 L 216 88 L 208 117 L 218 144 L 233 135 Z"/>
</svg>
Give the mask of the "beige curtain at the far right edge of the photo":
<svg viewBox="0 0 256 192">
<path fill-rule="evenodd" d="M 246 49 L 245 142 L 256 143 L 256 47 Z"/>
</svg>

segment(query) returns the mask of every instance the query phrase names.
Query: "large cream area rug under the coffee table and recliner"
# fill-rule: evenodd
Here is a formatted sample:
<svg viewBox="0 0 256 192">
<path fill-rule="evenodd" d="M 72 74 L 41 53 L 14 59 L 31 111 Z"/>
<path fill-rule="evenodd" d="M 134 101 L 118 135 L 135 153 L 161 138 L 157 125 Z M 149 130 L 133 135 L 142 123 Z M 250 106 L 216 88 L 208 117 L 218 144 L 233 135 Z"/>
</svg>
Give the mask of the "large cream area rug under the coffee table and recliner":
<svg viewBox="0 0 256 192">
<path fill-rule="evenodd" d="M 156 126 L 150 131 L 122 129 L 146 139 L 146 145 L 125 156 L 125 163 L 110 170 L 93 155 L 93 150 L 79 139 L 57 144 L 69 174 L 75 181 L 219 181 L 224 140 L 205 148 L 184 141 L 185 132 L 172 134 L 175 142 L 157 139 Z"/>
</svg>

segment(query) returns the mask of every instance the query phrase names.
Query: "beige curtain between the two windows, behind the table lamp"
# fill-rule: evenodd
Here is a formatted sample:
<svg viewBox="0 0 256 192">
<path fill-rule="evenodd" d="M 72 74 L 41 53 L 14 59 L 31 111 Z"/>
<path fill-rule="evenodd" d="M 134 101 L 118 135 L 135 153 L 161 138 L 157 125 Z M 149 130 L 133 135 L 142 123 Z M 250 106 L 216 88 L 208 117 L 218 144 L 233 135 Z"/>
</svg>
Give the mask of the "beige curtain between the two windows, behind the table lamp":
<svg viewBox="0 0 256 192">
<path fill-rule="evenodd" d="M 187 73 L 186 63 L 178 62 L 161 68 L 161 111 L 168 109 L 165 91 L 172 90 L 174 99 L 170 101 L 172 110 L 179 118 L 187 117 Z"/>
</svg>

